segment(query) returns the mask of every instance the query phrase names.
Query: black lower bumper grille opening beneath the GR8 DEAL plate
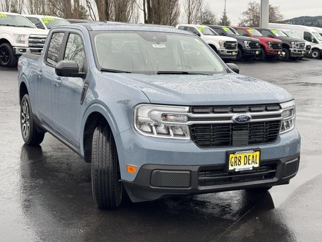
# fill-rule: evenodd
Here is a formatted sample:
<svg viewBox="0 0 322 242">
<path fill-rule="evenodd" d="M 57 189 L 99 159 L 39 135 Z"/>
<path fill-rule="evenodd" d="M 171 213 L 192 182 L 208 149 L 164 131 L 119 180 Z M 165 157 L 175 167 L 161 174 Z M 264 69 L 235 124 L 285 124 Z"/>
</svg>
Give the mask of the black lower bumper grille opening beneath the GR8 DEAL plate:
<svg viewBox="0 0 322 242">
<path fill-rule="evenodd" d="M 225 165 L 201 167 L 198 173 L 199 186 L 217 186 L 245 183 L 247 181 L 273 179 L 276 176 L 277 163 L 261 164 L 258 169 L 227 172 Z"/>
</svg>

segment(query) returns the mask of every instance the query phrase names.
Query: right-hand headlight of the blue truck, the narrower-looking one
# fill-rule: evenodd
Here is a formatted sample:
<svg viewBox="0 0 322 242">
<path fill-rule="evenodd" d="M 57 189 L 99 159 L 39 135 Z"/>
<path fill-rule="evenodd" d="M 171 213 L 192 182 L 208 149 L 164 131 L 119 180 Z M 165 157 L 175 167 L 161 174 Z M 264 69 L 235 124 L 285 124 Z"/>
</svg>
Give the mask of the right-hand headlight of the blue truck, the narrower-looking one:
<svg viewBox="0 0 322 242">
<path fill-rule="evenodd" d="M 291 131 L 295 127 L 295 102 L 294 100 L 280 104 L 282 107 L 282 125 L 280 134 Z"/>
</svg>

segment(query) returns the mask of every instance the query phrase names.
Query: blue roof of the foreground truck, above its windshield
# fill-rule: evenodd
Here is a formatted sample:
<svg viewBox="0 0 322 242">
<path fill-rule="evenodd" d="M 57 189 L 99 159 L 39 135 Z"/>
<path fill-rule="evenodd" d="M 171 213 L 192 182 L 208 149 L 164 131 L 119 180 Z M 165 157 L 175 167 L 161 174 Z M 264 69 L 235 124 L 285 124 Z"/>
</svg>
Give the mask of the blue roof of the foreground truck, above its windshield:
<svg viewBox="0 0 322 242">
<path fill-rule="evenodd" d="M 51 29 L 56 28 L 87 28 L 89 31 L 100 30 L 125 30 L 125 31 L 154 31 L 154 32 L 169 32 L 169 33 L 181 33 L 194 35 L 193 33 L 176 29 L 166 25 L 154 25 L 154 24 L 129 24 L 121 22 L 94 22 L 94 23 L 75 23 L 71 25 L 54 26 Z"/>
</svg>

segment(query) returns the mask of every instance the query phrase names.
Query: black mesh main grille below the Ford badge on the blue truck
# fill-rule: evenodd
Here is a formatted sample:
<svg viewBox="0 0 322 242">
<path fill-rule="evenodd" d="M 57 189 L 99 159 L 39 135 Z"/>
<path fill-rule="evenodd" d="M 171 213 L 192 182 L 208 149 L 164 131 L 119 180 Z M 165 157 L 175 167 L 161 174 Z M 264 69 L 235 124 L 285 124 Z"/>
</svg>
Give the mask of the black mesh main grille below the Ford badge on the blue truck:
<svg viewBox="0 0 322 242">
<path fill-rule="evenodd" d="M 277 140 L 280 121 L 248 124 L 194 124 L 192 140 L 204 148 L 273 143 Z"/>
</svg>

